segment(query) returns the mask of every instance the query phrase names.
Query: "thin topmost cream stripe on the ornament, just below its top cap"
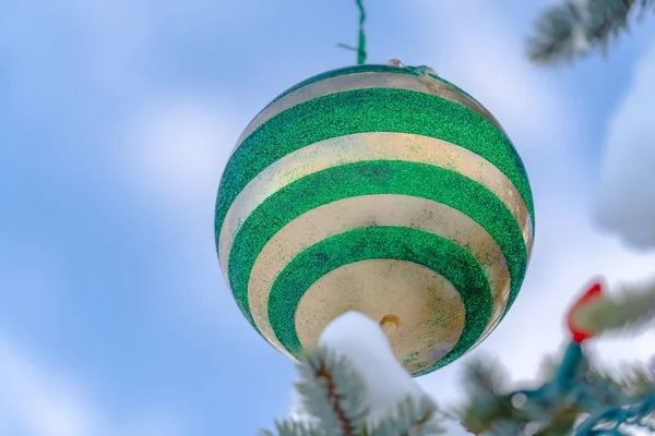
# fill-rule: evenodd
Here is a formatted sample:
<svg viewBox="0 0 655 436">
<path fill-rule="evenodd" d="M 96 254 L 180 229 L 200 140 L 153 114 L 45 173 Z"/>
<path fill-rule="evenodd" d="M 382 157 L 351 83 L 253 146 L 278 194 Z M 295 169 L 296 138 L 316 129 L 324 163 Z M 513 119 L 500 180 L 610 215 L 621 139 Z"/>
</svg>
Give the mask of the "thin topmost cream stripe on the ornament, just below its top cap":
<svg viewBox="0 0 655 436">
<path fill-rule="evenodd" d="M 355 73 L 329 77 L 311 83 L 287 94 L 279 100 L 272 102 L 267 108 L 261 111 L 254 118 L 254 120 L 250 122 L 243 133 L 241 133 L 241 136 L 233 149 L 233 154 L 239 147 L 239 145 L 241 145 L 243 140 L 250 136 L 250 134 L 260 125 L 296 105 L 300 105 L 313 98 L 323 97 L 330 94 L 367 88 L 406 89 L 414 90 L 416 93 L 436 95 L 437 97 L 456 102 L 473 110 L 496 125 L 500 131 L 503 131 L 496 118 L 493 118 L 493 116 L 489 113 L 489 111 L 479 102 L 475 101 L 467 95 L 460 93 L 452 85 L 445 84 L 441 81 L 433 80 L 430 81 L 428 85 L 425 81 L 421 81 L 418 76 L 412 74 L 380 72 Z"/>
</svg>

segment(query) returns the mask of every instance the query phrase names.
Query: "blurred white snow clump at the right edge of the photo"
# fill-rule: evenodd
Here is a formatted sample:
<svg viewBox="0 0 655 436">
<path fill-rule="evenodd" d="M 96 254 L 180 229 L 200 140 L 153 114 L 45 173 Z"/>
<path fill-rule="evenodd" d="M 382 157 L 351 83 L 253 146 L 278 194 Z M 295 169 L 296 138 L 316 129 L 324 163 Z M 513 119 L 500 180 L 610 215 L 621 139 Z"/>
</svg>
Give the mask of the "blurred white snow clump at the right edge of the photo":
<svg viewBox="0 0 655 436">
<path fill-rule="evenodd" d="M 655 41 L 606 134 L 596 202 L 599 223 L 627 243 L 655 247 Z"/>
</svg>

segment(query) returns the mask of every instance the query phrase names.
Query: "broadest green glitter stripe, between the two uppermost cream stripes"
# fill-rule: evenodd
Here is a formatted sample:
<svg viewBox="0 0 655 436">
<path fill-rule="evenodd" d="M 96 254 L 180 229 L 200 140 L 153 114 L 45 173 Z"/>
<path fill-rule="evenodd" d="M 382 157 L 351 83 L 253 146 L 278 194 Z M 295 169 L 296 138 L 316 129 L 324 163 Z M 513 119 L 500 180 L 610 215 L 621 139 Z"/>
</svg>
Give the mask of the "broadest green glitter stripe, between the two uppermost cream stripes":
<svg viewBox="0 0 655 436">
<path fill-rule="evenodd" d="M 493 124 L 452 101 L 401 89 L 357 89 L 297 105 L 263 123 L 230 158 L 216 202 L 218 232 L 229 205 L 257 174 L 282 157 L 319 141 L 360 132 L 404 132 L 462 146 L 495 165 L 534 207 L 523 162 Z"/>
</svg>

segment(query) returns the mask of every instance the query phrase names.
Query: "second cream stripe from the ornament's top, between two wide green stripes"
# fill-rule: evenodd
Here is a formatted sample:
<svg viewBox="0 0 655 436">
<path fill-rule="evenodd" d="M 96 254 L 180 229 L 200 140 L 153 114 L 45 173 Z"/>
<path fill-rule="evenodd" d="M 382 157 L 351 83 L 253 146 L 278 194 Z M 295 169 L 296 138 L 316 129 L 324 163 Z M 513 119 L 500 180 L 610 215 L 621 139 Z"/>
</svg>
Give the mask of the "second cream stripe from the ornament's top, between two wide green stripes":
<svg viewBox="0 0 655 436">
<path fill-rule="evenodd" d="M 221 228 L 218 257 L 225 277 L 228 277 L 227 259 L 239 228 L 266 198 L 311 173 L 367 160 L 427 164 L 457 171 L 475 180 L 504 203 L 521 227 L 526 246 L 532 246 L 532 222 L 525 202 L 512 182 L 485 158 L 429 136 L 390 132 L 357 133 L 321 141 L 294 152 L 265 168 L 243 187 L 229 207 Z"/>
</svg>

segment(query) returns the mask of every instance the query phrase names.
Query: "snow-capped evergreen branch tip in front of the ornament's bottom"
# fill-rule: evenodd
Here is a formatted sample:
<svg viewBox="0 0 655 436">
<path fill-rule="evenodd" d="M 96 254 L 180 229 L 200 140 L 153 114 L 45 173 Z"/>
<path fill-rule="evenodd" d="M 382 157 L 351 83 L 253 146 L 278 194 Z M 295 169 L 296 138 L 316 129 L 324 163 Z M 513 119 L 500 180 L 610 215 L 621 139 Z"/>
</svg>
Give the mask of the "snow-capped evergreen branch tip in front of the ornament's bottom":
<svg viewBox="0 0 655 436">
<path fill-rule="evenodd" d="M 379 324 L 348 313 L 299 361 L 302 416 L 276 422 L 278 436 L 433 436 L 453 423 L 393 356 Z M 449 436 L 467 434 L 461 426 Z M 274 436 L 270 431 L 263 436 Z"/>
</svg>

